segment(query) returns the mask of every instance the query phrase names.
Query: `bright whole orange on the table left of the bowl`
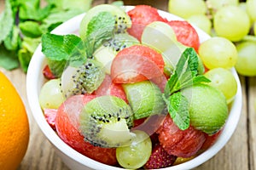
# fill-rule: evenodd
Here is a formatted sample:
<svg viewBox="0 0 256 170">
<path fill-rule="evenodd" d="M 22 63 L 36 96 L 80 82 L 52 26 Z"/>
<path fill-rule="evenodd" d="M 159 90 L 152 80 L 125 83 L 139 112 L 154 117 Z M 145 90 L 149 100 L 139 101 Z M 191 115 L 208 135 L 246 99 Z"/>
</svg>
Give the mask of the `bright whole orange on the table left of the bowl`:
<svg viewBox="0 0 256 170">
<path fill-rule="evenodd" d="M 29 122 L 13 84 L 0 71 L 0 169 L 16 169 L 26 154 Z"/>
</svg>

